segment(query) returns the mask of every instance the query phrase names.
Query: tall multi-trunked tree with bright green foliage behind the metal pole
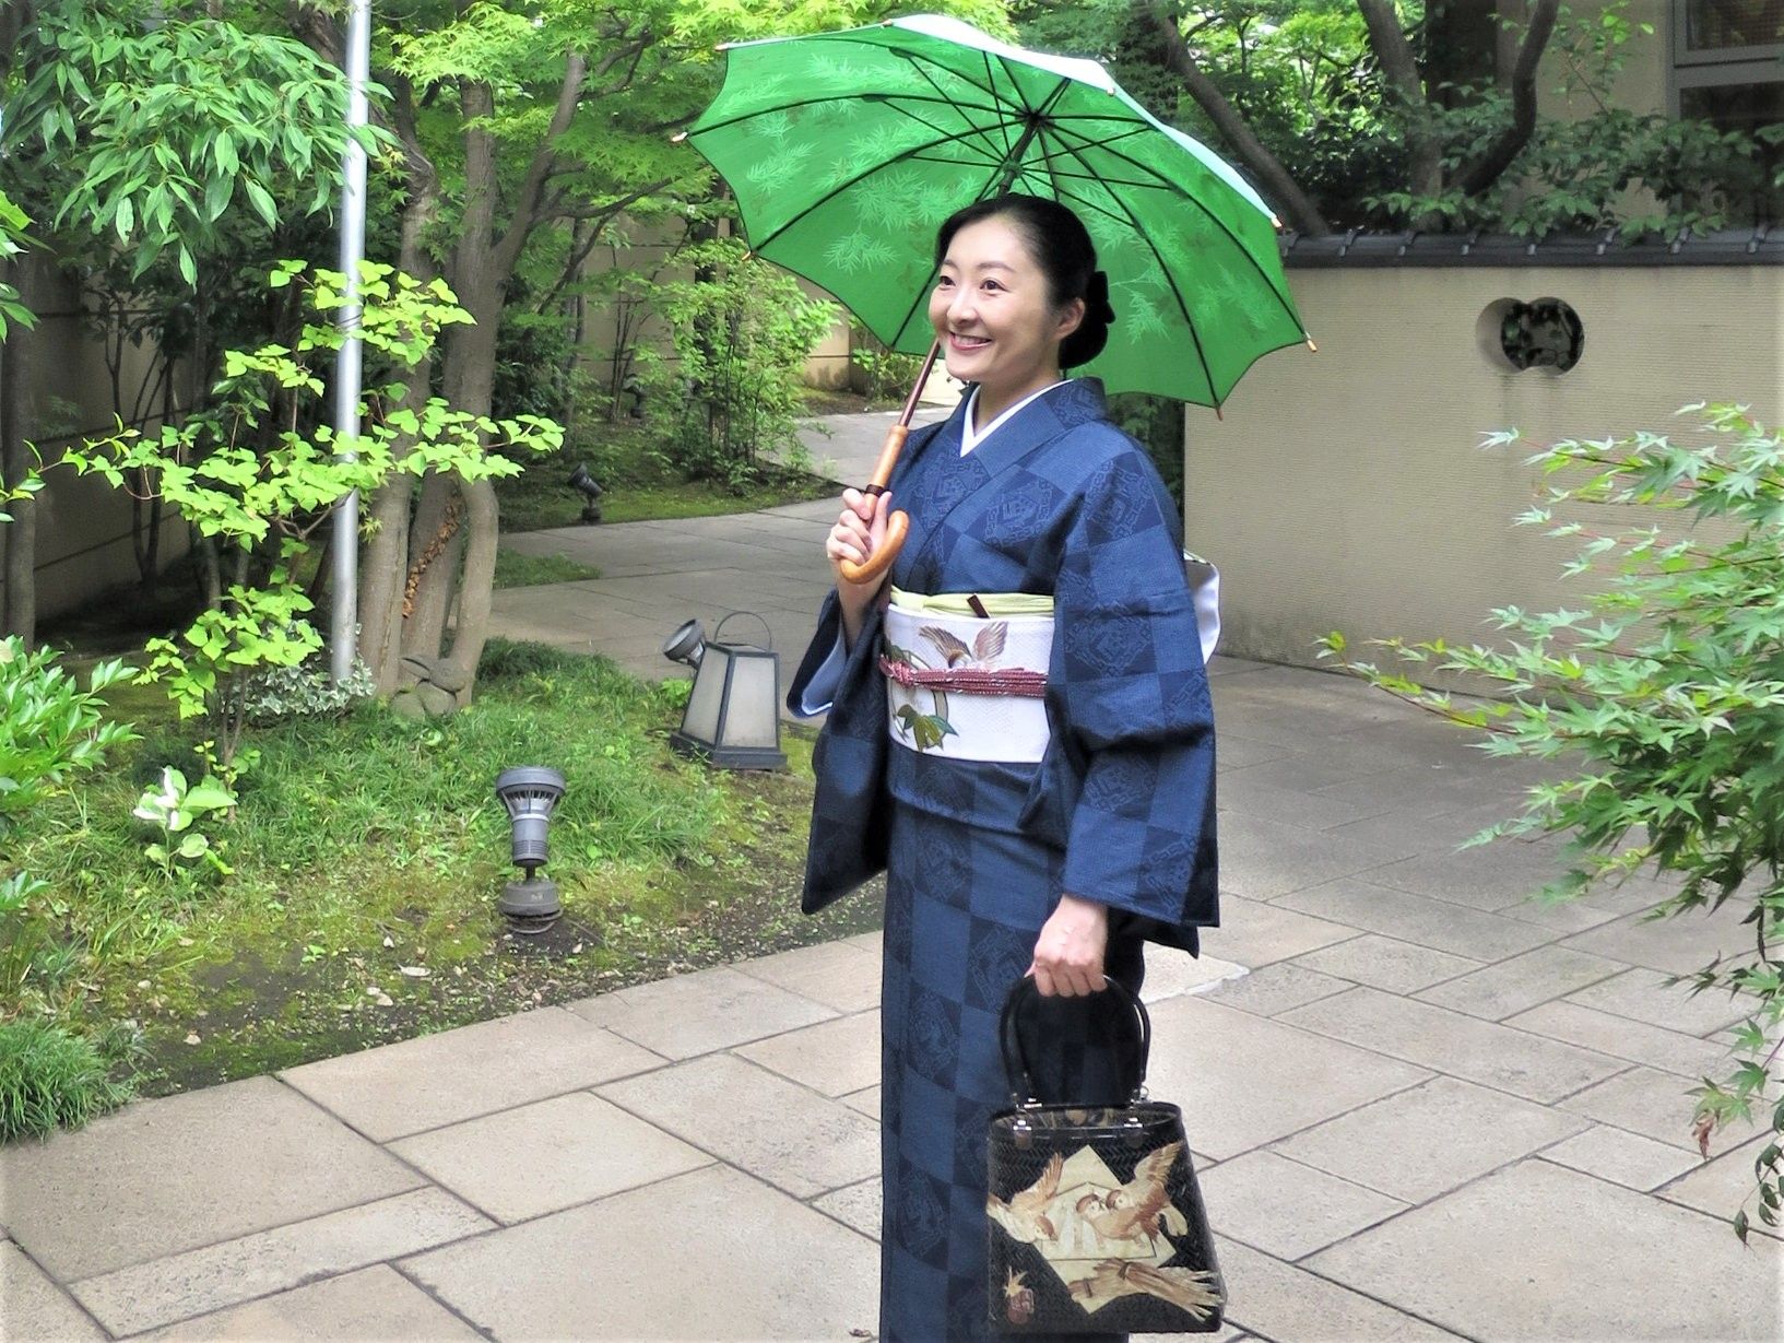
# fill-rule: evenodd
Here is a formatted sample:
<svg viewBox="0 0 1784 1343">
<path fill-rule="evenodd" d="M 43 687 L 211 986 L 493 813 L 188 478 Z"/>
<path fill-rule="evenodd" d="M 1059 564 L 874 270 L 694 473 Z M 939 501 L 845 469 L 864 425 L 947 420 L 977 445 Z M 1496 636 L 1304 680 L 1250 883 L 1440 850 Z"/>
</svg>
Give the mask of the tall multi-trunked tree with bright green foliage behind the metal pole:
<svg viewBox="0 0 1784 1343">
<path fill-rule="evenodd" d="M 1004 23 L 995 0 L 953 7 Z M 640 221 L 692 219 L 710 232 L 710 173 L 671 134 L 717 86 L 715 43 L 885 11 L 860 0 L 416 0 L 400 21 L 375 12 L 373 68 L 403 159 L 398 266 L 442 275 L 476 319 L 444 341 L 444 396 L 494 412 L 501 316 L 521 289 L 557 301 L 596 248 L 623 246 Z M 293 30 L 339 59 L 335 5 L 298 4 Z M 409 396 L 430 378 L 417 369 Z M 380 690 L 396 690 L 405 667 L 469 683 L 489 630 L 494 490 L 439 474 L 414 505 L 391 489 L 368 514 L 360 655 Z"/>
</svg>

